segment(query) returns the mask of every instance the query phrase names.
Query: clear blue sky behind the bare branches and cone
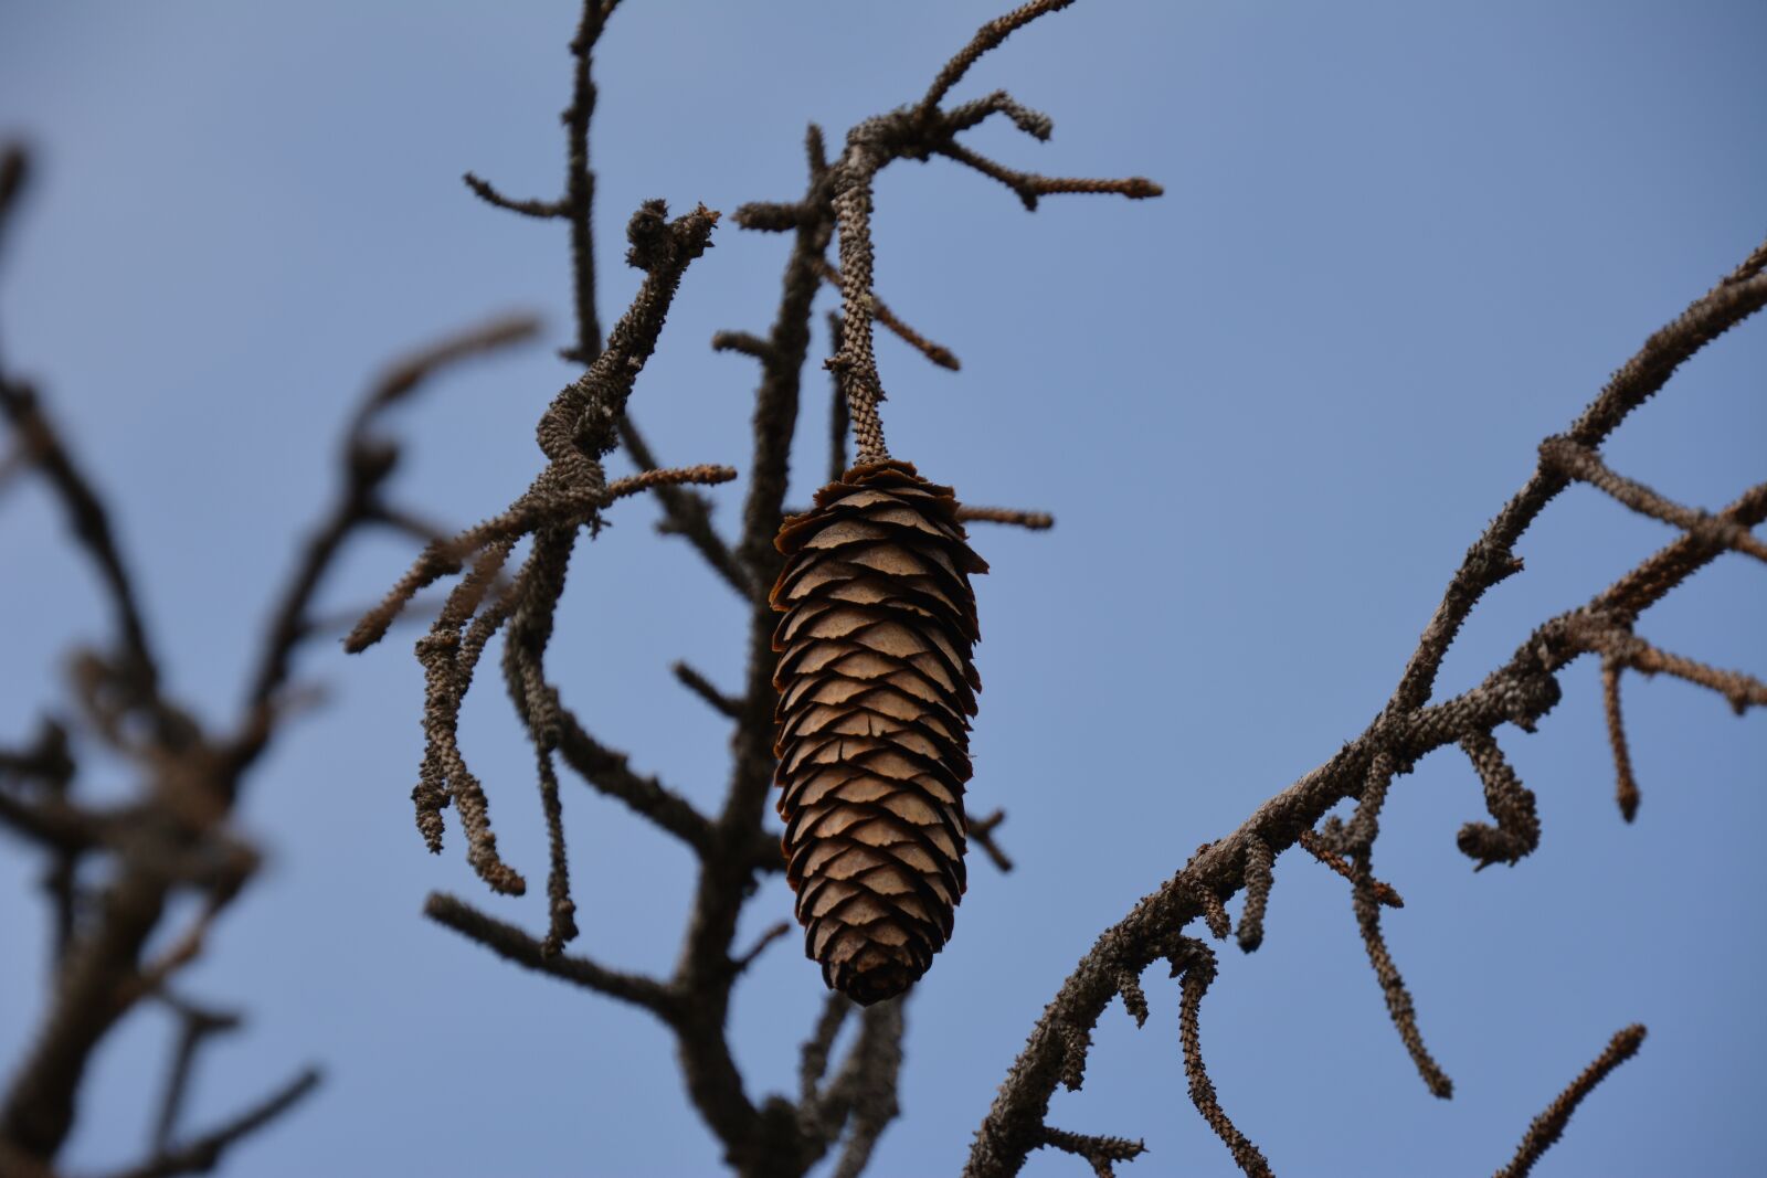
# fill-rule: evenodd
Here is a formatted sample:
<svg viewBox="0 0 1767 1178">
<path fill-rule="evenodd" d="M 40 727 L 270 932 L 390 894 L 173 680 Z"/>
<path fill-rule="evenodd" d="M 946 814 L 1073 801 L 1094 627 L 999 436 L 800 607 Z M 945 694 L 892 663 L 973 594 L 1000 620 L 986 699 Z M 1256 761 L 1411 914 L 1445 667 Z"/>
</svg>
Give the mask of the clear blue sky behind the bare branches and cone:
<svg viewBox="0 0 1767 1178">
<path fill-rule="evenodd" d="M 466 194 L 475 170 L 550 196 L 569 85 L 562 0 L 27 5 L 0 9 L 0 132 L 39 152 L 0 272 L 9 364 L 41 380 L 110 495 L 171 687 L 209 715 L 244 691 L 293 540 L 322 510 L 369 374 L 488 313 L 546 316 L 546 344 L 474 364 L 391 426 L 403 502 L 461 523 L 527 484 L 532 426 L 571 371 L 562 230 Z M 802 187 L 806 120 L 830 136 L 921 95 L 1004 5 L 627 0 L 597 62 L 597 226 L 611 318 L 634 288 L 620 226 L 648 196 L 732 210 Z M 1050 198 L 937 161 L 876 193 L 878 291 L 963 371 L 880 343 L 892 450 L 979 503 L 1041 507 L 1044 535 L 986 530 L 988 691 L 974 807 L 1009 811 L 1012 876 L 972 872 L 956 938 L 908 1007 L 905 1120 L 876 1174 L 952 1173 L 1043 1003 L 1196 844 L 1362 729 L 1449 574 L 1642 339 L 1767 233 L 1767 11 L 1753 4 L 1124 4 L 1083 0 L 1016 35 L 958 97 L 1011 88 L 1055 118 L 1037 145 L 972 143 L 1066 175 L 1149 175 L 1159 201 Z M 747 457 L 753 362 L 785 244 L 724 224 L 640 380 L 668 463 Z M 818 336 L 813 355 L 825 353 Z M 1606 454 L 1689 503 L 1762 479 L 1767 325 L 1687 366 Z M 822 378 L 793 498 L 825 457 Z M 733 525 L 742 484 L 716 491 Z M 724 724 L 670 678 L 740 671 L 740 606 L 650 503 L 622 505 L 573 569 L 551 668 L 608 744 L 700 802 Z M 1444 669 L 1458 691 L 1546 616 L 1670 539 L 1587 487 L 1523 540 Z M 102 634 L 88 569 L 37 487 L 0 500 L 0 740 L 62 705 L 62 659 Z M 410 553 L 353 547 L 325 600 L 371 600 Z M 1730 556 L 1647 615 L 1672 650 L 1767 668 L 1762 569 Z M 698 1174 L 717 1150 L 666 1035 L 424 924 L 431 888 L 539 929 L 537 897 L 482 895 L 451 841 L 410 823 L 421 676 L 405 636 L 309 650 L 329 705 L 262 766 L 242 823 L 270 865 L 187 989 L 251 1012 L 205 1060 L 193 1123 L 313 1060 L 327 1086 L 235 1173 Z M 1612 804 L 1592 666 L 1541 733 L 1498 738 L 1544 837 L 1474 876 L 1483 814 L 1460 754 L 1399 781 L 1376 848 L 1424 1033 L 1456 1081 L 1424 1093 L 1387 1024 L 1338 880 L 1278 864 L 1265 947 L 1223 952 L 1203 1003 L 1221 1099 L 1283 1173 L 1481 1173 L 1622 1024 L 1640 1058 L 1541 1173 L 1767 1169 L 1758 853 L 1767 724 L 1684 683 L 1627 680 L 1638 821 Z M 544 862 L 532 761 L 491 691 L 463 738 L 505 855 Z M 124 789 L 88 756 L 88 784 Z M 668 970 L 687 860 L 587 789 L 565 793 L 580 945 Z M 37 864 L 0 844 L 0 1060 L 42 1003 Z M 788 911 L 783 881 L 747 913 Z M 751 1091 L 793 1083 L 816 970 L 776 947 L 732 1033 Z M 1133 1174 L 1223 1174 L 1184 1097 L 1177 993 L 1115 1010 L 1066 1129 L 1143 1136 Z M 71 1169 L 138 1155 L 170 1028 L 131 1019 L 97 1060 Z M 1027 1174 L 1078 1162 L 1034 1157 Z"/>
</svg>

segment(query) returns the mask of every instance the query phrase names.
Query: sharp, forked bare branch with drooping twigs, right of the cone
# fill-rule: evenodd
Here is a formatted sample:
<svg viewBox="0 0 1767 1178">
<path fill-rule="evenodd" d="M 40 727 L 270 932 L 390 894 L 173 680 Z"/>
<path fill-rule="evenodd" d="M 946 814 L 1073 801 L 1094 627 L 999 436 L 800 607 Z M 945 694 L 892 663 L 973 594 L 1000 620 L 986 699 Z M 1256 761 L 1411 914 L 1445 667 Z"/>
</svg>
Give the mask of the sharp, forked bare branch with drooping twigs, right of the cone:
<svg viewBox="0 0 1767 1178">
<path fill-rule="evenodd" d="M 1422 1051 L 1408 994 L 1401 984 L 1392 984 L 1398 973 L 1389 968 L 1391 955 L 1385 955 L 1378 936 L 1380 901 L 1362 858 L 1373 830 L 1368 825 L 1355 830 L 1352 819 L 1348 827 L 1329 828 L 1331 837 L 1322 839 L 1313 828 L 1343 800 L 1359 798 L 1368 805 L 1369 774 L 1376 759 L 1391 758 L 1392 765 L 1408 766 L 1433 749 L 1461 744 L 1479 768 L 1491 814 L 1497 818 L 1495 827 L 1477 828 L 1481 834 L 1470 839 L 1463 834 L 1463 848 L 1481 862 L 1513 860 L 1518 853 L 1532 850 L 1537 839 L 1532 797 L 1521 789 L 1497 752 L 1493 731 L 1505 722 L 1532 731 L 1558 701 L 1558 671 L 1583 653 L 1597 652 L 1608 661 L 1610 683 L 1619 666 L 1629 666 L 1679 675 L 1721 692 L 1739 708 L 1763 699 L 1762 685 L 1753 676 L 1718 671 L 1657 652 L 1636 639 L 1631 627 L 1643 609 L 1723 551 L 1749 551 L 1751 542 L 1742 537 L 1767 519 L 1767 484 L 1751 487 L 1716 516 L 1695 517 L 1666 512 L 1661 503 L 1642 498 L 1633 487 L 1613 484 L 1620 491 L 1615 495 L 1619 502 L 1626 503 L 1624 496 L 1629 496 L 1634 502 L 1627 505 L 1657 517 L 1672 516 L 1670 523 L 1686 525 L 1686 532 L 1581 609 L 1543 623 L 1509 662 L 1491 671 L 1477 687 L 1452 699 L 1430 703 L 1435 675 L 1449 643 L 1484 590 L 1520 572 L 1521 562 L 1514 556 L 1513 546 L 1546 503 L 1569 484 L 1567 464 L 1581 463 L 1583 473 L 1596 475 L 1597 472 L 1580 457 L 1585 450 L 1599 447 L 1633 408 L 1657 392 L 1700 348 L 1767 306 L 1763 267 L 1767 267 L 1767 245 L 1749 254 L 1675 321 L 1652 334 L 1638 355 L 1613 374 L 1573 422 L 1564 434 L 1566 442 L 1548 443 L 1543 449 L 1534 477 L 1468 549 L 1392 698 L 1368 729 L 1329 761 L 1260 805 L 1239 830 L 1196 855 L 1157 892 L 1141 899 L 1124 920 L 1099 936 L 1092 952 L 1062 984 L 1002 1083 L 975 1136 L 965 1174 L 1000 1178 L 1018 1173 L 1025 1155 L 1044 1143 L 1046 1114 L 1055 1086 L 1064 1076 L 1073 1074 L 1074 1044 L 1088 1040 L 1088 1028 L 1097 1023 L 1119 991 L 1117 978 L 1140 973 L 1166 952 L 1164 947 L 1189 922 L 1203 918 L 1207 906 L 1200 897 L 1230 895 L 1249 885 L 1255 890 L 1256 911 L 1262 915 L 1269 894 L 1269 862 L 1297 842 L 1327 864 L 1338 860 L 1334 865 L 1339 871 L 1348 869 L 1345 874 L 1355 881 L 1357 922 L 1382 977 L 1394 1021 L 1430 1088 L 1445 1095 L 1447 1077 Z M 1617 717 L 1617 694 L 1612 685 L 1608 696 L 1610 715 Z M 1613 722 L 1617 733 L 1617 719 Z M 1619 735 L 1615 749 L 1617 756 L 1624 751 Z M 1620 765 L 1622 805 L 1626 805 L 1624 781 L 1629 774 L 1624 759 Z M 1350 851 L 1350 862 L 1339 858 L 1339 850 Z M 1253 940 L 1256 941 L 1256 936 Z"/>
</svg>

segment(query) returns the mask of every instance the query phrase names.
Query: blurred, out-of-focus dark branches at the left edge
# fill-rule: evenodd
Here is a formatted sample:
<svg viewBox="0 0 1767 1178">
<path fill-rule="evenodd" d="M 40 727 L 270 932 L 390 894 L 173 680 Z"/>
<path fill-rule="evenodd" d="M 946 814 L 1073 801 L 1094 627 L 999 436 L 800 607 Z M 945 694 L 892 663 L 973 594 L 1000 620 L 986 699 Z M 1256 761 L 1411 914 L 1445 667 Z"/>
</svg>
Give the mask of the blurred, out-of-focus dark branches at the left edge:
<svg viewBox="0 0 1767 1178">
<path fill-rule="evenodd" d="M 25 171 L 21 152 L 0 157 L 0 221 L 16 207 Z M 110 509 L 37 394 L 0 369 L 0 413 L 18 436 L 12 452 L 62 502 L 76 544 L 99 570 L 115 620 L 113 646 L 78 650 L 71 659 L 81 722 L 138 774 L 129 802 L 97 809 L 74 797 L 76 766 L 60 726 L 46 724 L 34 749 L 0 752 L 0 821 L 49 851 L 44 890 L 55 906 L 49 1000 L 0 1100 L 0 1166 L 7 1173 L 53 1173 L 99 1046 L 148 996 L 178 1014 L 180 1035 L 159 1100 L 155 1152 L 124 1171 L 131 1178 L 212 1169 L 235 1143 L 292 1109 L 318 1083 L 318 1074 L 306 1070 L 233 1120 L 177 1144 L 198 1047 L 237 1017 L 173 998 L 168 982 L 201 955 L 221 911 L 256 871 L 258 851 L 231 830 L 231 811 L 247 770 L 293 712 L 286 682 L 295 645 L 313 631 L 311 599 L 352 532 L 396 519 L 378 500 L 396 449 L 371 438 L 369 424 L 442 366 L 532 332 L 528 318 L 493 320 L 391 367 L 369 389 L 346 431 L 337 505 L 270 611 L 244 717 L 230 738 L 212 735 L 163 691 L 159 650 Z M 81 887 L 88 857 L 102 860 L 87 872 L 102 880 L 90 888 Z M 189 894 L 201 901 L 194 920 L 147 957 L 173 901 Z"/>
</svg>

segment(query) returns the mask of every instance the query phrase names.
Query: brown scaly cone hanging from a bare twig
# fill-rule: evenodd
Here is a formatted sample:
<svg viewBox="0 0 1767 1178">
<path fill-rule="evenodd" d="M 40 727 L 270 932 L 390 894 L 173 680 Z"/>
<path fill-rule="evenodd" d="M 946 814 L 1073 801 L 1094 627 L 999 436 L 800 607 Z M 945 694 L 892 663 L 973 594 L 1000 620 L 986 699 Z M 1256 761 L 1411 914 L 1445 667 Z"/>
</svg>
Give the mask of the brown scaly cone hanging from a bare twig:
<svg viewBox="0 0 1767 1178">
<path fill-rule="evenodd" d="M 926 973 L 963 895 L 968 717 L 981 678 L 951 487 L 912 463 L 848 470 L 785 521 L 779 816 L 806 952 L 859 1003 Z"/>
</svg>

